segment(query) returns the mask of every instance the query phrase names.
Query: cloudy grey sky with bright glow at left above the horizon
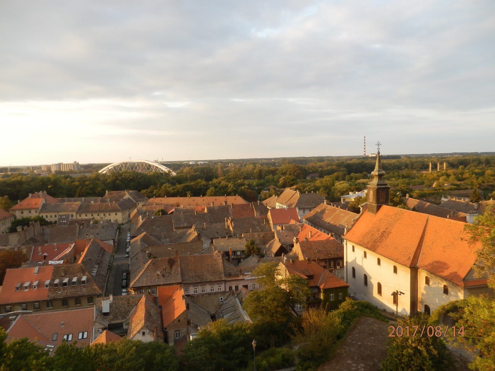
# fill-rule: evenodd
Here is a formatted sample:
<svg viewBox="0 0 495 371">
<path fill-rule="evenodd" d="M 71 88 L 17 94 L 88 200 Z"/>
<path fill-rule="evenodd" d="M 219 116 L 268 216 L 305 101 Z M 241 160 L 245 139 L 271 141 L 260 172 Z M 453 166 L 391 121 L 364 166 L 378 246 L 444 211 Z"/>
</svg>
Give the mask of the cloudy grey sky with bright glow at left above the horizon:
<svg viewBox="0 0 495 371">
<path fill-rule="evenodd" d="M 0 165 L 494 151 L 495 1 L 1 1 Z"/>
</svg>

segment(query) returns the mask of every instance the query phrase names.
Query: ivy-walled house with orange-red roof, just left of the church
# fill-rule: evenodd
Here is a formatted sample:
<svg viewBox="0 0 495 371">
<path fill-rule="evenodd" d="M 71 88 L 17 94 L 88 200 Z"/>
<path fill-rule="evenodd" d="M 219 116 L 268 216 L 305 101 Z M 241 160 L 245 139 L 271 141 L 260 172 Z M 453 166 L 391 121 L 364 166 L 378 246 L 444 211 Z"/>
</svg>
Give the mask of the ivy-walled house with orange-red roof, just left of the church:
<svg viewBox="0 0 495 371">
<path fill-rule="evenodd" d="M 308 301 L 310 307 L 322 307 L 331 310 L 346 300 L 349 285 L 334 276 L 329 270 L 311 260 L 284 260 L 277 267 L 280 271 L 279 277 L 287 278 L 297 275 L 304 278 L 311 290 L 311 297 Z M 296 312 L 300 314 L 302 311 L 302 307 L 297 305 Z"/>
</svg>

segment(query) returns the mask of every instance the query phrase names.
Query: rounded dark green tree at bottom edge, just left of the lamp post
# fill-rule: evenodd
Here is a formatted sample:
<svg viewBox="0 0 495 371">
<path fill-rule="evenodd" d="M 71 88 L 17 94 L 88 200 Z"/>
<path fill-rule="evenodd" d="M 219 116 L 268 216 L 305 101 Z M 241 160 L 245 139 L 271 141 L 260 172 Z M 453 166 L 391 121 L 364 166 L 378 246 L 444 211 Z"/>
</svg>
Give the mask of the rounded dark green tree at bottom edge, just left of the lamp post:
<svg viewBox="0 0 495 371">
<path fill-rule="evenodd" d="M 250 326 L 218 320 L 202 327 L 186 344 L 186 371 L 240 370 L 252 357 Z"/>
</svg>

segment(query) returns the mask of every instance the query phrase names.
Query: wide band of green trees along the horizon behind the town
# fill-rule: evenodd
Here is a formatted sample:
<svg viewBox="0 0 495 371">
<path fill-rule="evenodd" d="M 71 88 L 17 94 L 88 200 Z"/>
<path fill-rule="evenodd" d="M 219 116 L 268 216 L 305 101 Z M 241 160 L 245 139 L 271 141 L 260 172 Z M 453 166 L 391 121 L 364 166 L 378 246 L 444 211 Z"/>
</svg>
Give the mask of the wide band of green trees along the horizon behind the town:
<svg viewBox="0 0 495 371">
<path fill-rule="evenodd" d="M 433 171 L 423 173 L 428 170 L 430 162 Z M 441 163 L 441 171 L 436 171 L 437 162 Z M 445 171 L 444 162 L 447 165 Z M 336 201 L 342 194 L 364 189 L 374 166 L 375 158 L 371 157 L 313 161 L 308 164 L 287 159 L 278 162 L 186 165 L 176 171 L 175 177 L 163 173 L 128 171 L 94 172 L 78 177 L 13 173 L 0 178 L 0 196 L 7 196 L 11 203 L 15 203 L 40 190 L 46 190 L 54 197 L 87 197 L 103 196 L 105 190 L 135 189 L 148 197 L 239 194 L 248 201 L 255 201 L 258 194 L 269 186 L 284 188 L 295 185 L 303 192 L 318 191 L 327 199 Z M 387 181 L 402 195 L 412 194 L 412 185 L 435 185 L 430 192 L 436 193 L 478 187 L 485 196 L 489 196 L 494 191 L 495 156 L 384 159 L 382 166 L 387 172 Z M 309 174 L 319 174 L 319 179 L 306 180 Z M 267 196 L 268 193 L 263 194 L 263 198 Z"/>
</svg>

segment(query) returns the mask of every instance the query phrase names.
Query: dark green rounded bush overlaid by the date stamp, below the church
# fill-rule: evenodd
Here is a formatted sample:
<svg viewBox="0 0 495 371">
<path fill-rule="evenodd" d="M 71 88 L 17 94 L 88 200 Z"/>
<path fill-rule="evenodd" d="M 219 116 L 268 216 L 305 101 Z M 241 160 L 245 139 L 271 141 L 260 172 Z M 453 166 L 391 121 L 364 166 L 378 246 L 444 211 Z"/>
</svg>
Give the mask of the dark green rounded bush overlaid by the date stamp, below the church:
<svg viewBox="0 0 495 371">
<path fill-rule="evenodd" d="M 398 319 L 398 325 L 428 326 L 428 316 Z M 445 342 L 436 336 L 401 336 L 391 338 L 387 358 L 381 364 L 382 371 L 446 371 L 450 370 L 451 361 Z"/>
</svg>

